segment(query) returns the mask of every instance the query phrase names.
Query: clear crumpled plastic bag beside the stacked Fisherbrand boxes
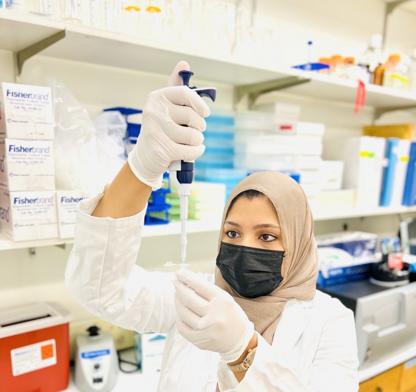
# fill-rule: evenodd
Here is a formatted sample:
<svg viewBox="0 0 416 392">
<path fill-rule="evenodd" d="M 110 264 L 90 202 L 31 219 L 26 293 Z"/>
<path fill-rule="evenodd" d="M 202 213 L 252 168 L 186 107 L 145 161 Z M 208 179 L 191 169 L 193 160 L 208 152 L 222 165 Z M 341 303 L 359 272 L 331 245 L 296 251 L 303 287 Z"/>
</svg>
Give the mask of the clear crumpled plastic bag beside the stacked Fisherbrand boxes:
<svg viewBox="0 0 416 392">
<path fill-rule="evenodd" d="M 103 113 L 93 123 L 67 87 L 49 79 L 55 103 L 55 182 L 62 190 L 98 192 L 126 162 L 127 124 L 119 113 Z"/>
</svg>

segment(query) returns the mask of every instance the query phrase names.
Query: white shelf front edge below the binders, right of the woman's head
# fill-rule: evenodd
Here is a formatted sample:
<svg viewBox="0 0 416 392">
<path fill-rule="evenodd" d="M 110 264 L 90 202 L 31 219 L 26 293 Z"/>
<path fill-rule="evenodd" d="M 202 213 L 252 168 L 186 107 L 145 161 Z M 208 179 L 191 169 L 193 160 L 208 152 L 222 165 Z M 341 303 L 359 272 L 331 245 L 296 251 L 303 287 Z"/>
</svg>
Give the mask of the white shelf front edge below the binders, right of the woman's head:
<svg viewBox="0 0 416 392">
<path fill-rule="evenodd" d="M 378 215 L 394 215 L 394 214 L 410 214 L 416 213 L 416 206 L 406 207 L 376 207 L 367 209 L 350 209 L 350 210 L 336 210 L 336 211 L 318 211 L 313 212 L 314 221 L 331 221 L 335 219 L 346 218 L 362 218 L 362 217 L 374 217 Z"/>
</svg>

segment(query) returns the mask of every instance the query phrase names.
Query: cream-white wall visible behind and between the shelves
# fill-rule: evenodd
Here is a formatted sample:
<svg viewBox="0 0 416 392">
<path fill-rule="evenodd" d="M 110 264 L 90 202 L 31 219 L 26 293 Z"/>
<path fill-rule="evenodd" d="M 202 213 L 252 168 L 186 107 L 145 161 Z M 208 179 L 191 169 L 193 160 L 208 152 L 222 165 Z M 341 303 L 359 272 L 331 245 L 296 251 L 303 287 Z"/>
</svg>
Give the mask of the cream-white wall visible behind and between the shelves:
<svg viewBox="0 0 416 392">
<path fill-rule="evenodd" d="M 371 33 L 381 32 L 384 3 L 379 0 L 261 0 L 259 10 L 274 15 L 281 23 L 281 43 L 289 65 L 304 62 L 306 42 L 314 41 L 316 57 L 341 53 L 358 56 L 367 45 Z M 416 47 L 416 16 L 396 10 L 389 24 L 390 49 L 410 50 Z M 172 64 L 172 67 L 174 64 Z M 192 66 L 192 65 L 191 65 Z M 102 108 L 125 105 L 143 107 L 148 93 L 166 83 L 164 75 L 139 73 L 111 67 L 83 64 L 35 56 L 23 66 L 21 81 L 41 82 L 53 76 L 69 87 L 82 105 L 94 117 Z M 10 52 L 0 51 L 0 80 L 13 81 Z M 195 84 L 209 81 L 195 79 Z M 209 83 L 211 84 L 211 83 Z M 218 85 L 218 101 L 213 107 L 231 108 L 233 90 Z M 316 101 L 281 92 L 277 98 L 301 105 L 301 120 L 323 122 L 325 137 L 360 134 L 362 125 L 370 123 L 372 109 L 366 108 L 353 115 L 352 104 Z M 267 103 L 267 97 L 259 104 Z M 408 112 L 388 114 L 383 122 L 414 122 Z M 351 229 L 394 235 L 398 218 L 375 217 L 346 220 Z M 316 233 L 339 231 L 344 220 L 317 222 Z M 188 260 L 192 269 L 211 272 L 217 250 L 218 233 L 189 234 Z M 163 246 L 161 246 L 163 243 Z M 54 298 L 67 306 L 75 316 L 89 316 L 65 291 L 63 276 L 68 249 L 38 248 L 30 256 L 27 249 L 0 251 L 0 306 L 17 305 L 30 300 Z M 144 238 L 139 251 L 139 264 L 149 270 L 161 269 L 166 261 L 179 260 L 179 236 Z"/>
</svg>

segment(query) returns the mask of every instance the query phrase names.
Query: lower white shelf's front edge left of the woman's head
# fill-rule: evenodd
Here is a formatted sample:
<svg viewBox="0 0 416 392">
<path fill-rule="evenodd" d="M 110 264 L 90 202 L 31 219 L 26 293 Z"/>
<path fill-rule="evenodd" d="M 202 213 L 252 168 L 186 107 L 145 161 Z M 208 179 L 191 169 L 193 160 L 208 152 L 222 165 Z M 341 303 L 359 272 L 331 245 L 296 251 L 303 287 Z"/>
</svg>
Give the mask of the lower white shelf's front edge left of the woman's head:
<svg viewBox="0 0 416 392">
<path fill-rule="evenodd" d="M 207 232 L 219 232 L 221 226 L 221 218 L 210 219 L 204 221 L 188 221 L 186 225 L 186 232 L 192 233 L 207 233 Z M 142 238 L 146 237 L 158 237 L 167 235 L 179 235 L 181 234 L 181 223 L 173 222 L 168 224 L 159 225 L 145 225 L 143 228 Z M 36 248 L 41 246 L 61 246 L 72 245 L 74 243 L 73 238 L 60 239 L 52 238 L 48 240 L 37 241 L 11 241 L 6 236 L 0 233 L 0 250 L 10 249 L 24 249 L 24 248 Z"/>
</svg>

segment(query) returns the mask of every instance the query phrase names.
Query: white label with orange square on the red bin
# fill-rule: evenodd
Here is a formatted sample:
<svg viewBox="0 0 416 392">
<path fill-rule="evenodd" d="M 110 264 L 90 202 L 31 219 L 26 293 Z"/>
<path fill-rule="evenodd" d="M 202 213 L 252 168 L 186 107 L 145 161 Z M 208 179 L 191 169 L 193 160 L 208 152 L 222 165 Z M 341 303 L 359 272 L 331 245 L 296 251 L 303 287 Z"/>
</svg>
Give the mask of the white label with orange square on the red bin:
<svg viewBox="0 0 416 392">
<path fill-rule="evenodd" d="M 15 348 L 10 356 L 13 376 L 56 365 L 55 339 Z"/>
</svg>

